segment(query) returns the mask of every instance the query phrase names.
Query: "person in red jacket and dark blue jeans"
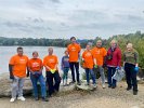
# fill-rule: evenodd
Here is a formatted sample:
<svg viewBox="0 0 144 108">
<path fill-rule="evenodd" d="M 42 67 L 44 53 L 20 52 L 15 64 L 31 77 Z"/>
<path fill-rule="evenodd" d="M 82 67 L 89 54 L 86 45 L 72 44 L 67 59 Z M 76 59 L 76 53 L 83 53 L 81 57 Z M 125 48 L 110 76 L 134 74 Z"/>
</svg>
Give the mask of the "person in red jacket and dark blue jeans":
<svg viewBox="0 0 144 108">
<path fill-rule="evenodd" d="M 121 66 L 121 50 L 118 48 L 117 41 L 112 40 L 110 48 L 107 51 L 107 67 L 108 67 L 108 87 L 115 89 L 117 81 L 112 77 Z"/>
</svg>

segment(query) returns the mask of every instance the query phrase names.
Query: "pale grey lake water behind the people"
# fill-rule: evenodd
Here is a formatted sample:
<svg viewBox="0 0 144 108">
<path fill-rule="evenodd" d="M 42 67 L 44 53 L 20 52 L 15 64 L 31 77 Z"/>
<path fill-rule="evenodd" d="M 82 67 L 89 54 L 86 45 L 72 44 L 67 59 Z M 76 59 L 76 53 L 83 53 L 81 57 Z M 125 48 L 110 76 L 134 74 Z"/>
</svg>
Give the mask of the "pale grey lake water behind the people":
<svg viewBox="0 0 144 108">
<path fill-rule="evenodd" d="M 9 72 L 9 60 L 10 58 L 16 54 L 16 48 L 17 46 L 0 46 L 0 73 Z M 31 58 L 31 53 L 34 51 L 39 52 L 39 57 L 43 59 L 45 55 L 48 55 L 48 46 L 23 46 L 24 48 L 24 54 L 27 55 L 29 58 Z M 58 68 L 61 71 L 61 59 L 64 55 L 64 51 L 66 48 L 54 48 L 54 54 L 58 57 Z M 44 71 L 44 70 L 43 70 Z M 83 72 L 84 70 L 80 68 L 80 72 Z M 69 71 L 70 72 L 70 71 Z"/>
</svg>

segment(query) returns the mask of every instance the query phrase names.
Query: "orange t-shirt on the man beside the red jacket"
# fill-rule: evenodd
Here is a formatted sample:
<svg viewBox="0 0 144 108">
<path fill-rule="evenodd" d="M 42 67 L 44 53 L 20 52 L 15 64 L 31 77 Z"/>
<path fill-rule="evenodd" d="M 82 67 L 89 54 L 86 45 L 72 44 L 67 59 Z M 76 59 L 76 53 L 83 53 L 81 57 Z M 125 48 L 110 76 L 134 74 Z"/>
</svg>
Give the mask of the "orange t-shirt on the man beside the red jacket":
<svg viewBox="0 0 144 108">
<path fill-rule="evenodd" d="M 104 56 L 106 56 L 107 52 L 105 48 L 93 48 L 92 55 L 96 59 L 99 66 L 103 66 L 104 64 Z"/>
</svg>

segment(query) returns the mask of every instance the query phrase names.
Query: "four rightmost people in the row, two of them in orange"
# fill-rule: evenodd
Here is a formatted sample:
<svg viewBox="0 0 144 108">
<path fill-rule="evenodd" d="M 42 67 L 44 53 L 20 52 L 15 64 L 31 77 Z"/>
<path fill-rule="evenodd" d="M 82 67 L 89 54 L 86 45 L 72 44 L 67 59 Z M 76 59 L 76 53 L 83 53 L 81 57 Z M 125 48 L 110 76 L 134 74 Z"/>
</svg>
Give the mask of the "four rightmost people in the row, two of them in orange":
<svg viewBox="0 0 144 108">
<path fill-rule="evenodd" d="M 105 72 L 104 67 L 107 68 L 108 87 L 115 89 L 117 80 L 113 79 L 116 70 L 123 68 L 126 71 L 127 91 L 133 89 L 133 95 L 138 94 L 136 75 L 139 72 L 139 53 L 133 49 L 132 43 L 128 43 L 123 54 L 116 40 L 112 40 L 109 49 L 106 51 L 102 46 L 102 40 L 97 40 L 96 45 L 91 48 L 87 44 L 86 51 L 82 53 L 82 67 L 86 69 L 87 84 L 90 84 L 89 75 L 93 81 L 93 87 L 96 87 L 94 69 L 99 69 L 102 79 L 102 87 L 105 89 Z M 123 57 L 123 64 L 121 59 Z M 97 71 L 96 71 L 97 72 Z"/>
</svg>

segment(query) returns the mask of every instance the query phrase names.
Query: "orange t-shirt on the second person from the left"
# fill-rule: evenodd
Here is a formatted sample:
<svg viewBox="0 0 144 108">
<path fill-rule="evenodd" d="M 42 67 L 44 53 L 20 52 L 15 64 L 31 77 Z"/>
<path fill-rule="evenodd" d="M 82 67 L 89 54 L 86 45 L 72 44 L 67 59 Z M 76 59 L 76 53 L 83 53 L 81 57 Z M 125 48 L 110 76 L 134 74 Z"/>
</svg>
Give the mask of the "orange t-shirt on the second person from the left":
<svg viewBox="0 0 144 108">
<path fill-rule="evenodd" d="M 28 67 L 32 70 L 32 71 L 39 71 L 42 68 L 42 60 L 40 58 L 31 58 L 28 62 Z"/>
</svg>

